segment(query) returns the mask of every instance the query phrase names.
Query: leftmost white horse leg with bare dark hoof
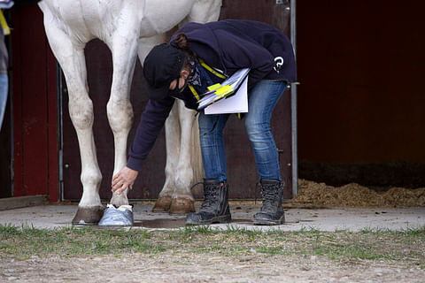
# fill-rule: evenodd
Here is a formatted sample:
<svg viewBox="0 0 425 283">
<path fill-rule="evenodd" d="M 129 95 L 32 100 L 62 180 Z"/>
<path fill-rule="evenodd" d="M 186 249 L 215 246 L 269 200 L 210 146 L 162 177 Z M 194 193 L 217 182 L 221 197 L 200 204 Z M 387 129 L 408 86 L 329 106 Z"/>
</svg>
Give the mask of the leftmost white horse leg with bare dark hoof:
<svg viewBox="0 0 425 283">
<path fill-rule="evenodd" d="M 65 74 L 69 114 L 80 146 L 82 196 L 73 223 L 96 224 L 103 215 L 103 206 L 99 197 L 102 174 L 97 164 L 93 138 L 93 103 L 87 89 L 84 45 L 74 44 L 46 14 L 44 25 L 51 50 Z"/>
</svg>

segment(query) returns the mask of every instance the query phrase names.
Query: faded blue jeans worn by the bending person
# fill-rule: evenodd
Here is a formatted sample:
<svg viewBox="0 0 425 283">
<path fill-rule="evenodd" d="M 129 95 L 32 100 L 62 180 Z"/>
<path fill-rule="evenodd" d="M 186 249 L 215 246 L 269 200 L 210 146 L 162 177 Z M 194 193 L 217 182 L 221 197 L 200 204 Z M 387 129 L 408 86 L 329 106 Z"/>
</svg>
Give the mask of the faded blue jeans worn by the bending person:
<svg viewBox="0 0 425 283">
<path fill-rule="evenodd" d="M 282 180 L 270 119 L 285 88 L 286 82 L 282 80 L 260 80 L 249 91 L 248 113 L 245 113 L 243 119 L 254 150 L 260 180 Z M 223 128 L 229 115 L 205 115 L 204 111 L 199 114 L 199 138 L 205 178 L 227 180 Z"/>
</svg>

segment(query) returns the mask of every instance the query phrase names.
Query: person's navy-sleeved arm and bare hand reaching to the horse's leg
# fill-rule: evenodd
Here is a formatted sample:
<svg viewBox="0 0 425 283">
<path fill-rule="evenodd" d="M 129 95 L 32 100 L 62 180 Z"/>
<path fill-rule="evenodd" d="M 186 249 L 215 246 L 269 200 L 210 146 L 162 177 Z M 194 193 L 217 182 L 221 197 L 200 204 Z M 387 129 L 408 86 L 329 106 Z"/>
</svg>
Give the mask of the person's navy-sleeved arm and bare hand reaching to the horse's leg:
<svg viewBox="0 0 425 283">
<path fill-rule="evenodd" d="M 135 140 L 129 150 L 128 164 L 112 177 L 112 192 L 116 191 L 120 195 L 126 188 L 133 188 L 143 161 L 157 140 L 173 105 L 172 97 L 160 102 L 150 100 L 146 104 L 135 133 Z"/>
</svg>

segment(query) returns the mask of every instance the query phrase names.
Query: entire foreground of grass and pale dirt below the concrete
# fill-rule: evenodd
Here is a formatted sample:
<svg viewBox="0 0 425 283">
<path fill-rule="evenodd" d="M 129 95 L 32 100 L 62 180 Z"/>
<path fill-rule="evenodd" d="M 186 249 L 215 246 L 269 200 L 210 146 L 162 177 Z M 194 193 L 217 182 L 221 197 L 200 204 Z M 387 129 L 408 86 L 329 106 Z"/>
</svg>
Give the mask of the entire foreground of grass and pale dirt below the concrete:
<svg viewBox="0 0 425 283">
<path fill-rule="evenodd" d="M 421 233 L 6 228 L 0 282 L 422 282 Z"/>
</svg>

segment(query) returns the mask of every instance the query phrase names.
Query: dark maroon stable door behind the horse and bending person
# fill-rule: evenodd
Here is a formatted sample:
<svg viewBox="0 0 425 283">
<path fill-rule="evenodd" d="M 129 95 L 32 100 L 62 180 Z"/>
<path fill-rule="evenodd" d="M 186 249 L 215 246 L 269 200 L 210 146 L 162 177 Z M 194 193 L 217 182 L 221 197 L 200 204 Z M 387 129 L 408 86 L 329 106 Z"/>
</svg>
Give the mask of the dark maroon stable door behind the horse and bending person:
<svg viewBox="0 0 425 283">
<path fill-rule="evenodd" d="M 223 0 L 220 19 L 252 19 L 264 21 L 278 27 L 290 35 L 290 3 L 276 0 Z M 98 163 L 103 174 L 100 195 L 103 199 L 111 197 L 111 178 L 113 170 L 113 139 L 112 131 L 106 117 L 106 103 L 109 98 L 112 82 L 111 52 L 103 42 L 89 42 L 86 50 L 87 69 L 89 74 L 90 97 L 94 103 L 95 122 L 94 133 L 97 145 Z M 66 84 L 63 88 L 63 199 L 78 200 L 81 197 L 80 182 L 81 161 L 77 136 L 73 129 L 67 110 Z M 128 143 L 135 134 L 147 98 L 143 94 L 143 73 L 138 62 L 131 88 L 131 103 L 135 111 L 133 129 Z M 292 178 L 294 172 L 292 155 L 293 112 L 291 111 L 291 93 L 285 91 L 281 101 L 274 110 L 272 131 L 279 149 L 282 167 L 282 178 L 287 183 L 285 198 L 292 196 Z M 295 114 L 295 113 L 294 113 Z M 225 129 L 225 142 L 228 160 L 229 197 L 233 199 L 253 199 L 256 196 L 256 182 L 259 177 L 256 171 L 251 144 L 248 141 L 243 121 L 235 117 L 228 120 Z M 130 199 L 155 199 L 165 180 L 164 167 L 166 164 L 164 130 L 159 135 L 151 154 L 147 158 L 142 172 L 135 182 L 134 189 L 129 193 Z M 60 169 L 60 168 L 59 168 Z"/>
</svg>

